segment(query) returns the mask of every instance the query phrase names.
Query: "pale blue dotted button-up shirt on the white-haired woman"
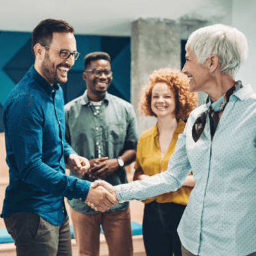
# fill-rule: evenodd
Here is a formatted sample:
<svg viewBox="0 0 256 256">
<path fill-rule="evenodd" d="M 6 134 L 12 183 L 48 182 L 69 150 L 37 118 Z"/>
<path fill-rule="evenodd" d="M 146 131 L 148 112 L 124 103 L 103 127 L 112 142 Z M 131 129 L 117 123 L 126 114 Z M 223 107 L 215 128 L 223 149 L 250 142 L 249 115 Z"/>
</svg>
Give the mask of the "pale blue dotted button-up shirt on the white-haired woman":
<svg viewBox="0 0 256 256">
<path fill-rule="evenodd" d="M 192 169 L 196 186 L 178 227 L 183 246 L 202 256 L 248 255 L 256 252 L 256 94 L 250 85 L 235 92 L 214 138 L 207 117 L 194 142 L 192 125 L 205 110 L 203 105 L 191 112 L 167 171 L 118 185 L 117 198 L 142 200 L 175 191 Z"/>
</svg>

